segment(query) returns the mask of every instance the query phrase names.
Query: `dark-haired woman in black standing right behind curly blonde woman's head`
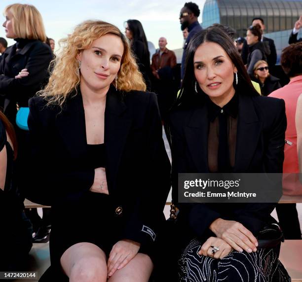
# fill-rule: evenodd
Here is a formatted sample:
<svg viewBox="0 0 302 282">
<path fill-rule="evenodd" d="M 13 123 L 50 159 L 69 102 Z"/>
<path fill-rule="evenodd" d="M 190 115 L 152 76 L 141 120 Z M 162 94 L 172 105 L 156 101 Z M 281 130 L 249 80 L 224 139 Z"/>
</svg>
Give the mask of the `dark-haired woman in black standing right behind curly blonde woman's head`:
<svg viewBox="0 0 302 282">
<path fill-rule="evenodd" d="M 150 90 L 150 52 L 142 23 L 138 20 L 126 21 L 125 35 L 131 42 L 131 49 L 133 54 L 135 55 L 136 63 L 138 64 L 140 72 L 143 74 L 147 89 Z"/>
</svg>

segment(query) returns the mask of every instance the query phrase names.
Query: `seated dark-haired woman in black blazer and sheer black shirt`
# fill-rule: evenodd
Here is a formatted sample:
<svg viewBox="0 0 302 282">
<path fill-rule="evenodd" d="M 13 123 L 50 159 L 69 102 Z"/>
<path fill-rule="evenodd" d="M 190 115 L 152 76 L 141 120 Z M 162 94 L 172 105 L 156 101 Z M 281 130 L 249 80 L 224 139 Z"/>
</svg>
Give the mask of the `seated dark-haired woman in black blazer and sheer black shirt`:
<svg viewBox="0 0 302 282">
<path fill-rule="evenodd" d="M 284 101 L 259 96 L 220 28 L 194 36 L 170 115 L 172 199 L 179 208 L 181 281 L 290 281 L 275 249 L 258 248 L 274 204 L 182 204 L 178 173 L 281 173 Z"/>
</svg>

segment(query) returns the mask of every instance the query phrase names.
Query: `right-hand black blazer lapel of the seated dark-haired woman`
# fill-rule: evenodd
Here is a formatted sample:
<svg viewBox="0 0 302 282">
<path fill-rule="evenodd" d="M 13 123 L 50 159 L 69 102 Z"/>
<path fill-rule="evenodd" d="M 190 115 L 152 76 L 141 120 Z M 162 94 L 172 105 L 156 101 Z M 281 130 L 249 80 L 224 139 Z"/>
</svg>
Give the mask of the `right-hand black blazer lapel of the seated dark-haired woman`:
<svg viewBox="0 0 302 282">
<path fill-rule="evenodd" d="M 262 130 L 253 98 L 239 95 L 237 140 L 234 172 L 247 171 Z"/>
</svg>

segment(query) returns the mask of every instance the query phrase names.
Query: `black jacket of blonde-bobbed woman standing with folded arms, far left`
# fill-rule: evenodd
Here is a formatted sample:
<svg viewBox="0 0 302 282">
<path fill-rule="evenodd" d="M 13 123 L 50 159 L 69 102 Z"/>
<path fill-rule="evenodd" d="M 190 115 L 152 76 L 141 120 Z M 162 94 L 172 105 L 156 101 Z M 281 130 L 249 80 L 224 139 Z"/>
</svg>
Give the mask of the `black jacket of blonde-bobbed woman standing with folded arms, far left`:
<svg viewBox="0 0 302 282">
<path fill-rule="evenodd" d="M 27 40 L 17 54 L 16 45 L 9 46 L 0 60 L 0 95 L 10 101 L 5 111 L 10 120 L 16 116 L 15 104 L 28 106 L 28 100 L 47 83 L 47 69 L 53 56 L 50 47 L 40 40 Z M 27 69 L 29 75 L 16 79 L 22 69 Z"/>
</svg>

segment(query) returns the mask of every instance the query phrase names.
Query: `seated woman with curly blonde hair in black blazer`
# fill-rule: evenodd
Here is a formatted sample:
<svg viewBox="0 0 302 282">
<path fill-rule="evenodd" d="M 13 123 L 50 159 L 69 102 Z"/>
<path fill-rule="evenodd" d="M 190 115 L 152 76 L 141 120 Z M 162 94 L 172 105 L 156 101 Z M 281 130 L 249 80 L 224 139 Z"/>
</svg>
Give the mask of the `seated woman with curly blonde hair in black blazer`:
<svg viewBox="0 0 302 282">
<path fill-rule="evenodd" d="M 52 267 L 71 282 L 147 282 L 170 188 L 156 96 L 115 26 L 85 21 L 61 43 L 28 120 Z"/>
</svg>

